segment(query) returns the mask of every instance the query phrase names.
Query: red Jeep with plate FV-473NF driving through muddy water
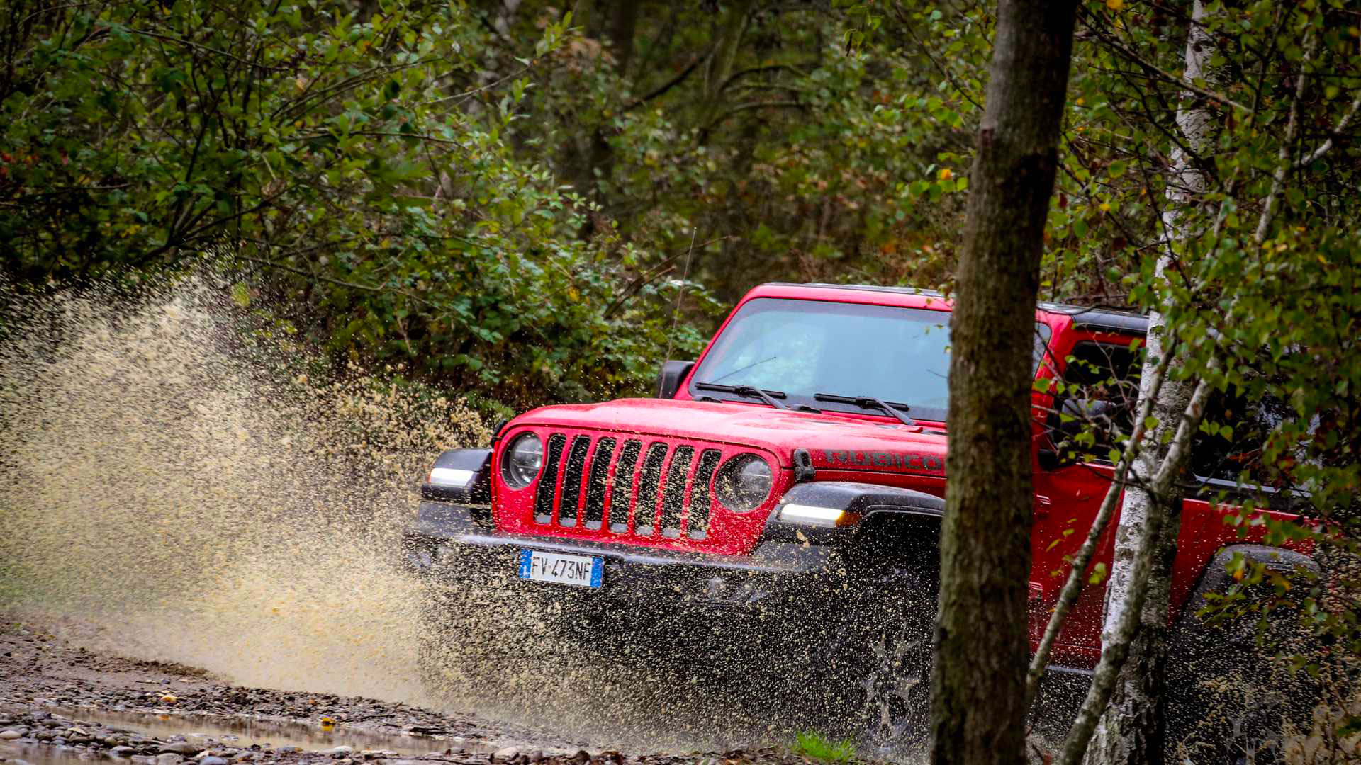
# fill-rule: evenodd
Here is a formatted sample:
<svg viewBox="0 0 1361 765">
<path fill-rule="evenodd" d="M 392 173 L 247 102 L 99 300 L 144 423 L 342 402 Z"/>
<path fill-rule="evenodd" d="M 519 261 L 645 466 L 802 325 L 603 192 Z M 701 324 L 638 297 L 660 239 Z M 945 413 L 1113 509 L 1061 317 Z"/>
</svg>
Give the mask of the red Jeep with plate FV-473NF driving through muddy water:
<svg viewBox="0 0 1361 765">
<path fill-rule="evenodd" d="M 921 731 L 949 325 L 950 301 L 935 293 L 759 286 L 698 361 L 664 363 L 655 399 L 536 408 L 501 425 L 490 449 L 441 455 L 408 527 L 410 561 L 455 579 L 490 572 L 495 587 L 595 608 L 608 615 L 602 632 L 668 632 L 651 615 L 629 622 L 640 604 L 738 623 L 743 636 L 780 642 L 780 656 L 798 645 L 792 664 L 823 681 L 849 678 L 804 687 L 837 696 L 872 739 Z M 1036 310 L 1036 391 L 1060 378 L 1064 392 L 1034 393 L 1033 448 L 1018 455 L 1036 466 L 1033 641 L 1112 472 L 1098 459 L 1108 453 L 1101 427 L 1079 436 L 1070 423 L 1092 418 L 1062 412 L 1127 423 L 1145 331 L 1132 313 Z M 1098 457 L 1066 456 L 1074 451 Z M 1198 446 L 1204 495 L 1240 490 L 1233 457 L 1243 451 Z M 1185 502 L 1179 614 L 1198 607 L 1198 587 L 1224 585 L 1234 551 L 1278 569 L 1307 564 L 1240 538 L 1228 512 Z M 1098 564 L 1109 564 L 1111 539 Z M 1104 587 L 1089 585 L 1057 641 L 1056 670 L 1096 664 L 1102 603 Z"/>
</svg>

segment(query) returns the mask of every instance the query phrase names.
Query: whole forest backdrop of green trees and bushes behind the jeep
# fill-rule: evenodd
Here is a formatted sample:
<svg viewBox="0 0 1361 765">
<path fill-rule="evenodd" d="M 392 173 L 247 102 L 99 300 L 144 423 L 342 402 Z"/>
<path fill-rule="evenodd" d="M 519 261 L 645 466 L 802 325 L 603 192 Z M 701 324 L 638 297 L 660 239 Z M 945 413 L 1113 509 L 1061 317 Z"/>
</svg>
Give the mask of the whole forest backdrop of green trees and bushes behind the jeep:
<svg viewBox="0 0 1361 765">
<path fill-rule="evenodd" d="M 754 283 L 950 290 L 994 14 L 7 0 L 0 271 L 136 291 L 207 267 L 332 366 L 489 415 L 645 395 Z M 1312 513 L 1270 538 L 1353 554 L 1358 105 L 1343 0 L 1081 3 L 1041 265 L 1044 299 L 1157 309 L 1170 377 L 1233 403 L 1199 430 Z M 1236 579 L 1268 596 L 1222 614 L 1328 636 L 1297 667 L 1361 731 L 1354 577 Z"/>
</svg>

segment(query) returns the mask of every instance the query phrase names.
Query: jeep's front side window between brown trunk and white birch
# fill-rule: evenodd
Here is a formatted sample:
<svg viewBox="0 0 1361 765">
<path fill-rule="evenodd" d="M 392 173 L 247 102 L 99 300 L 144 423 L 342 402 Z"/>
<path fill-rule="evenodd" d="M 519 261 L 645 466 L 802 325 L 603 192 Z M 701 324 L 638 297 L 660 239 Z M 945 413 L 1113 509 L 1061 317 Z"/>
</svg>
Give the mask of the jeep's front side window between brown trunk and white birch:
<svg viewBox="0 0 1361 765">
<path fill-rule="evenodd" d="M 1134 340 L 1134 338 L 1131 338 Z M 1109 461 L 1134 425 L 1142 346 L 1085 342 L 1074 346 L 1049 415 L 1049 441 L 1066 459 Z"/>
</svg>

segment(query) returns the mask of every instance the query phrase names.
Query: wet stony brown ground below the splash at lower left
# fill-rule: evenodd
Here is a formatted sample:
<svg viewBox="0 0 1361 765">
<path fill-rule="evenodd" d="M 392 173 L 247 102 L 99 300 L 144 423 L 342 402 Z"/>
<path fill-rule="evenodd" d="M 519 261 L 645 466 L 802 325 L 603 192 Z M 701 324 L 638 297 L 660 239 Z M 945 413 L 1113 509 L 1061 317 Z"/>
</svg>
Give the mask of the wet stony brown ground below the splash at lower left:
<svg viewBox="0 0 1361 765">
<path fill-rule="evenodd" d="M 80 629 L 14 617 L 3 621 L 0 761 L 803 762 L 774 747 L 689 754 L 599 751 L 542 731 L 406 704 L 242 687 L 192 667 L 91 652 L 59 637 Z"/>
</svg>

